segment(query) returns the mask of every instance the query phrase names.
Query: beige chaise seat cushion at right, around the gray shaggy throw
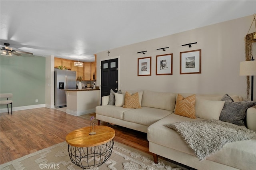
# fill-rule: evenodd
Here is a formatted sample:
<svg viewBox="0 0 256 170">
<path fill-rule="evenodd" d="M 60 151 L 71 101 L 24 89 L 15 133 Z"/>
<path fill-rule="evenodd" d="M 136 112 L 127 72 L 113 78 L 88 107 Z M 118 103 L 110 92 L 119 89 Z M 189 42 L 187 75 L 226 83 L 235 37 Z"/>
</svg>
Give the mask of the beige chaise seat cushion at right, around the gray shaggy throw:
<svg viewBox="0 0 256 170">
<path fill-rule="evenodd" d="M 164 119 L 161 119 L 148 127 L 148 141 L 194 155 L 193 150 L 187 146 L 186 142 L 184 142 L 177 132 L 164 127 L 163 125 L 182 121 L 199 120 L 204 119 L 189 119 L 175 114 L 168 115 Z M 248 167 L 248 165 L 255 164 L 256 154 L 255 150 L 252 149 L 255 148 L 255 144 L 256 140 L 244 140 L 228 143 L 222 148 L 222 150 L 216 154 L 212 154 L 206 159 L 236 167 L 238 169 L 253 169 L 252 167 Z M 197 161 L 196 157 L 195 161 Z"/>
</svg>

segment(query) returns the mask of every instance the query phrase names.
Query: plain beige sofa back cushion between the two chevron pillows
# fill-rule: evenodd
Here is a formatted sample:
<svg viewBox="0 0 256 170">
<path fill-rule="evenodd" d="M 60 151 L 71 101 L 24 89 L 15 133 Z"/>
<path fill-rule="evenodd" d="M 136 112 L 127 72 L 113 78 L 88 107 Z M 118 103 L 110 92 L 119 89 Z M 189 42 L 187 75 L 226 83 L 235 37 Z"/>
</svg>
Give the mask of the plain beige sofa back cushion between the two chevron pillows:
<svg viewBox="0 0 256 170">
<path fill-rule="evenodd" d="M 141 106 L 174 111 L 175 96 L 175 93 L 161 93 L 145 90 L 143 91 Z"/>
</svg>

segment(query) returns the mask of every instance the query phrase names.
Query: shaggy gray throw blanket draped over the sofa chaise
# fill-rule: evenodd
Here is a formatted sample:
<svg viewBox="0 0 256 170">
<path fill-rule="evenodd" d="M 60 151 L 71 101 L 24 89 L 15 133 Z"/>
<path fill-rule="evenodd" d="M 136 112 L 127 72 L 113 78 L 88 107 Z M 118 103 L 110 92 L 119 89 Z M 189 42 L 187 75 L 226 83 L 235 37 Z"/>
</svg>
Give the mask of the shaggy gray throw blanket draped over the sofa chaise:
<svg viewBox="0 0 256 170">
<path fill-rule="evenodd" d="M 178 132 L 200 161 L 220 151 L 228 142 L 256 139 L 253 130 L 213 119 L 164 126 Z"/>
</svg>

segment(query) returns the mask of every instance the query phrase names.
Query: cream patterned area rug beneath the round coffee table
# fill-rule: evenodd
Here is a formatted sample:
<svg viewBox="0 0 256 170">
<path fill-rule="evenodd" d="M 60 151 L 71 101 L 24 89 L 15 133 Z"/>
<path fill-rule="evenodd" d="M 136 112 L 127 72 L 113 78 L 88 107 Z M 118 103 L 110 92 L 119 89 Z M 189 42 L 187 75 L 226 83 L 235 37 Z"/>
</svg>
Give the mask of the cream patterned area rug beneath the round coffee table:
<svg viewBox="0 0 256 170">
<path fill-rule="evenodd" d="M 186 170 L 178 165 L 162 159 L 158 164 L 153 162 L 153 156 L 124 144 L 114 142 L 110 158 L 93 170 Z M 82 170 L 70 161 L 66 142 L 55 144 L 48 148 L 28 154 L 16 160 L 0 165 L 1 170 Z"/>
</svg>

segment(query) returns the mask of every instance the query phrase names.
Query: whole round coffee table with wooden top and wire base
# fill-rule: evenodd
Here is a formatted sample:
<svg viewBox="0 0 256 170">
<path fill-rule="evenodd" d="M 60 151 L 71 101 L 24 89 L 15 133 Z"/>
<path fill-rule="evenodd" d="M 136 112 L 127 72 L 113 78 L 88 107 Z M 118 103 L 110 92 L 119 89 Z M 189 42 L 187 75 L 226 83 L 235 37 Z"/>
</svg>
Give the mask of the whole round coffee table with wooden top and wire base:
<svg viewBox="0 0 256 170">
<path fill-rule="evenodd" d="M 107 126 L 95 126 L 95 131 L 96 134 L 90 135 L 90 127 L 84 127 L 66 136 L 70 160 L 81 168 L 98 167 L 112 153 L 115 130 Z"/>
</svg>

